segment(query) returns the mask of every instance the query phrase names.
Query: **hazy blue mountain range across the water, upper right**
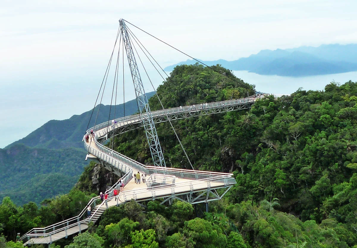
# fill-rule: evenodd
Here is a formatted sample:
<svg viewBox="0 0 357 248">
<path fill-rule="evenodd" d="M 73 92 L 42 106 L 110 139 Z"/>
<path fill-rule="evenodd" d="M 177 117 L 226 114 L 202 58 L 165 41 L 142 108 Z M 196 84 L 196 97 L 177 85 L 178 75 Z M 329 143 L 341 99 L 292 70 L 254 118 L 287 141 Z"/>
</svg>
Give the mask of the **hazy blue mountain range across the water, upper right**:
<svg viewBox="0 0 357 248">
<path fill-rule="evenodd" d="M 164 70 L 172 71 L 176 65 L 196 62 L 188 59 L 165 67 Z M 218 59 L 202 62 L 207 65 L 221 64 L 230 70 L 247 70 L 261 75 L 310 76 L 344 73 L 357 71 L 357 44 L 262 50 L 247 58 L 233 61 Z"/>
</svg>

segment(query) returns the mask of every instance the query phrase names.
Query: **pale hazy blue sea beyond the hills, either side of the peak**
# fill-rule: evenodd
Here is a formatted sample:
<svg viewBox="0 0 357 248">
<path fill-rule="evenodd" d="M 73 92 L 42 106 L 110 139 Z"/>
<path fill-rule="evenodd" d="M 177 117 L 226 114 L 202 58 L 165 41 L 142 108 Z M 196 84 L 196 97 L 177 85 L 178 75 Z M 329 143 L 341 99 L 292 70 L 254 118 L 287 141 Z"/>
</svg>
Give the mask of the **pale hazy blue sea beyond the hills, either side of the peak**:
<svg viewBox="0 0 357 248">
<path fill-rule="evenodd" d="M 291 94 L 300 87 L 304 90 L 323 90 L 331 81 L 341 84 L 349 80 L 357 81 L 357 72 L 303 77 L 259 75 L 247 71 L 233 73 L 243 81 L 254 84 L 257 91 L 275 94 Z M 129 101 L 135 98 L 135 94 L 131 79 L 127 78 L 125 81 L 125 101 Z M 161 78 L 154 78 L 152 81 L 154 87 L 162 83 Z M 153 91 L 149 81 L 143 79 L 143 83 L 146 92 Z M 51 81 L 20 80 L 2 85 L 0 128 L 3 135 L 0 147 L 27 136 L 49 120 L 64 120 L 89 111 L 94 107 L 100 84 L 101 78 L 97 77 L 57 78 Z M 111 92 L 107 90 L 103 104 L 110 104 Z M 117 104 L 123 101 L 122 91 L 120 92 Z M 99 102 L 100 100 L 97 104 Z"/>
</svg>

